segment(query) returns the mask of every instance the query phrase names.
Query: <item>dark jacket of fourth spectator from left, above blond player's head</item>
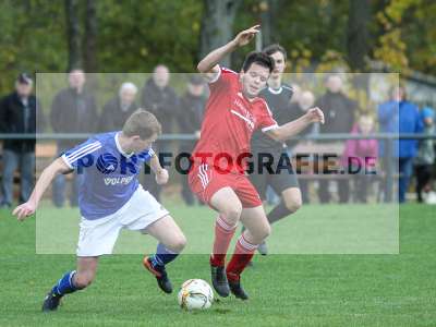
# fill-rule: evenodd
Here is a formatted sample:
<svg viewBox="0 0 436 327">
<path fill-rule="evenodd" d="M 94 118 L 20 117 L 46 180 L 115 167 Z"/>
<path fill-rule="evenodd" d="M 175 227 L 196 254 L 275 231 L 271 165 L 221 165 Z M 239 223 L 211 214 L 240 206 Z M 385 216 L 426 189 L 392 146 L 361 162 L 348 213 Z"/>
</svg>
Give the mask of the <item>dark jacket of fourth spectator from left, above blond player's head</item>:
<svg viewBox="0 0 436 327">
<path fill-rule="evenodd" d="M 142 90 L 143 108 L 156 116 L 162 125 L 162 133 L 172 133 L 172 124 L 178 113 L 179 98 L 171 86 L 157 87 L 149 78 Z"/>
</svg>

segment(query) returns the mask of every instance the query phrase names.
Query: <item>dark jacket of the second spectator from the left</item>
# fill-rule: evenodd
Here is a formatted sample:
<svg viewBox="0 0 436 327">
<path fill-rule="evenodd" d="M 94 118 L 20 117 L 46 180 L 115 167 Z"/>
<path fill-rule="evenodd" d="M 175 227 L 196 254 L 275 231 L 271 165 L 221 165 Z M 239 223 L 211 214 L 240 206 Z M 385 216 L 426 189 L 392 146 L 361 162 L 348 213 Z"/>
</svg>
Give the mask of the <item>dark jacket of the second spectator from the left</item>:
<svg viewBox="0 0 436 327">
<path fill-rule="evenodd" d="M 60 90 L 51 105 L 50 123 L 55 133 L 95 133 L 97 106 L 92 94 L 77 94 L 72 88 Z M 58 142 L 62 149 L 81 143 L 81 140 Z"/>
</svg>

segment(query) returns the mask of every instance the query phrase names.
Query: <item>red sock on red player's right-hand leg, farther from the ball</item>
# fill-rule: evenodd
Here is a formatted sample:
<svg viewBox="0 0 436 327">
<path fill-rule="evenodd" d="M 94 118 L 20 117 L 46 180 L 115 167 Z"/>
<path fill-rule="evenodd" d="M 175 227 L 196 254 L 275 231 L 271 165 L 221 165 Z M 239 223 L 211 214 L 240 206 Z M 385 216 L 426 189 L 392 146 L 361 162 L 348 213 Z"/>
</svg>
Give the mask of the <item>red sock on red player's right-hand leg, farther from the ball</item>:
<svg viewBox="0 0 436 327">
<path fill-rule="evenodd" d="M 244 238 L 242 234 L 237 242 L 237 246 L 234 247 L 234 253 L 230 263 L 227 265 L 227 278 L 232 281 L 238 281 L 240 275 L 246 267 L 246 265 L 252 259 L 254 252 L 256 251 L 257 245 L 252 244 Z"/>
</svg>

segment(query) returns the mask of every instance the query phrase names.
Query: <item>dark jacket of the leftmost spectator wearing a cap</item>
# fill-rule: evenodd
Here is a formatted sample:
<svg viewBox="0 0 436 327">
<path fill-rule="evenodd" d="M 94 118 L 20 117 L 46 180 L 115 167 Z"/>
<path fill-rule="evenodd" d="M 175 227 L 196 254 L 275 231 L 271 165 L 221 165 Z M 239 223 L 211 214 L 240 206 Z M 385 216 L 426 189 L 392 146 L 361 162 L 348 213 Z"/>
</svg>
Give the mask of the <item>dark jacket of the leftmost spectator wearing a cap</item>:
<svg viewBox="0 0 436 327">
<path fill-rule="evenodd" d="M 16 92 L 5 96 L 0 101 L 0 132 L 1 133 L 32 133 L 43 132 L 45 120 L 39 101 L 34 95 L 28 97 L 25 107 Z M 4 149 L 15 152 L 34 152 L 35 138 L 5 140 Z"/>
</svg>

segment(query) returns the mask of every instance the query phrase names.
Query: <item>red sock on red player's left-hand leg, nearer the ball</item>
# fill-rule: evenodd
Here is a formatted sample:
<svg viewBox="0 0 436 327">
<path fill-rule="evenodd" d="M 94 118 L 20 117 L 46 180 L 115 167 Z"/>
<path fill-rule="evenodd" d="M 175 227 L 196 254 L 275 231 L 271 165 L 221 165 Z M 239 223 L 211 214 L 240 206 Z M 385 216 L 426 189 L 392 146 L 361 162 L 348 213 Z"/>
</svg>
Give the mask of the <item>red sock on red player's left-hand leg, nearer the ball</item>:
<svg viewBox="0 0 436 327">
<path fill-rule="evenodd" d="M 226 254 L 229 249 L 231 239 L 233 238 L 237 226 L 231 226 L 223 216 L 218 215 L 215 221 L 215 241 L 214 250 L 210 256 L 213 266 L 223 266 L 226 263 Z"/>
</svg>

